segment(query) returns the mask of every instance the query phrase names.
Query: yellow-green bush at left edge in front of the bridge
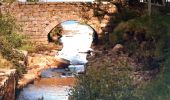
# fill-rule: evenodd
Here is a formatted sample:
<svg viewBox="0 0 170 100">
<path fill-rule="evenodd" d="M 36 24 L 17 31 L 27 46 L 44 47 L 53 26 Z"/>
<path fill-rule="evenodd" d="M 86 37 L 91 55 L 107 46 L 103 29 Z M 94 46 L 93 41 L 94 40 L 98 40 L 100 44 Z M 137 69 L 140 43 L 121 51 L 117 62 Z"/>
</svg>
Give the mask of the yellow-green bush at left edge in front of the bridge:
<svg viewBox="0 0 170 100">
<path fill-rule="evenodd" d="M 19 61 L 23 59 L 23 55 L 16 49 L 26 44 L 26 42 L 23 35 L 15 33 L 18 29 L 16 26 L 15 20 L 10 15 L 0 15 L 0 54 L 3 59 L 10 61 L 13 65 L 2 67 L 16 68 L 19 73 L 23 73 L 24 67 L 19 64 Z"/>
</svg>

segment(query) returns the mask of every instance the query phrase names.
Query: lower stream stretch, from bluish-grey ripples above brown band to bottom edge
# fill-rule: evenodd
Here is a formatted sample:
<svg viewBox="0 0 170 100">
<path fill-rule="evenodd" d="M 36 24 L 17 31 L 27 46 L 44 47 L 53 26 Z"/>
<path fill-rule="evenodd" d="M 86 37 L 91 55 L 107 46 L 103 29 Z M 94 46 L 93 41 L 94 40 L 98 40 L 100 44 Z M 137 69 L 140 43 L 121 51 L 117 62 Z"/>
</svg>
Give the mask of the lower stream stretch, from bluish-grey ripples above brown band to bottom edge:
<svg viewBox="0 0 170 100">
<path fill-rule="evenodd" d="M 74 77 L 64 69 L 48 69 L 41 78 L 29 84 L 20 92 L 17 100 L 68 100 L 70 87 L 74 85 Z M 65 77 L 64 77 L 65 76 Z"/>
</svg>

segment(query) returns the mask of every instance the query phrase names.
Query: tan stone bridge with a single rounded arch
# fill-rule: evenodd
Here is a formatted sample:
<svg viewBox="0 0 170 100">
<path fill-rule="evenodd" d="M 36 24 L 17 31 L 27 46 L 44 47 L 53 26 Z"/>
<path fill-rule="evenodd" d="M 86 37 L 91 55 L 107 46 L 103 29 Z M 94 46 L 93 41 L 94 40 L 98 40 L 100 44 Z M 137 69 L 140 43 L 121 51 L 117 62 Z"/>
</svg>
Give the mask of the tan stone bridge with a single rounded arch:
<svg viewBox="0 0 170 100">
<path fill-rule="evenodd" d="M 89 24 L 99 37 L 108 32 L 113 14 L 117 11 L 113 4 L 97 3 L 13 3 L 1 8 L 9 12 L 21 26 L 20 33 L 30 37 L 34 43 L 48 43 L 47 34 L 58 24 L 67 20 L 77 20 Z M 111 30 L 110 30 L 111 31 Z"/>
</svg>

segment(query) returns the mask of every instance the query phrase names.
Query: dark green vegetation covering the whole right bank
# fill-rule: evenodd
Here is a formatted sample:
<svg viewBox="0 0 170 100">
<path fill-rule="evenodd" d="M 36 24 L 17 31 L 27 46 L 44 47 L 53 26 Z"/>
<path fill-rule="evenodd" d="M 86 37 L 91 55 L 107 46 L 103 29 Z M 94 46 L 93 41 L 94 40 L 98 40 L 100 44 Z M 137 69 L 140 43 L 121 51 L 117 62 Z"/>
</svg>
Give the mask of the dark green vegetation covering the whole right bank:
<svg viewBox="0 0 170 100">
<path fill-rule="evenodd" d="M 129 15 L 126 12 L 117 15 L 120 19 L 112 34 L 109 34 L 109 47 L 122 44 L 123 52 L 139 66 L 122 59 L 114 61 L 112 54 L 108 54 L 107 58 L 103 54 L 95 59 L 94 63 L 97 64 L 88 65 L 86 74 L 78 77 L 76 86 L 71 89 L 71 100 L 170 99 L 169 15 L 139 16 L 132 14 L 133 11 L 129 12 Z M 152 76 L 153 79 L 134 84 L 133 72 L 154 69 L 160 72 Z"/>
</svg>

